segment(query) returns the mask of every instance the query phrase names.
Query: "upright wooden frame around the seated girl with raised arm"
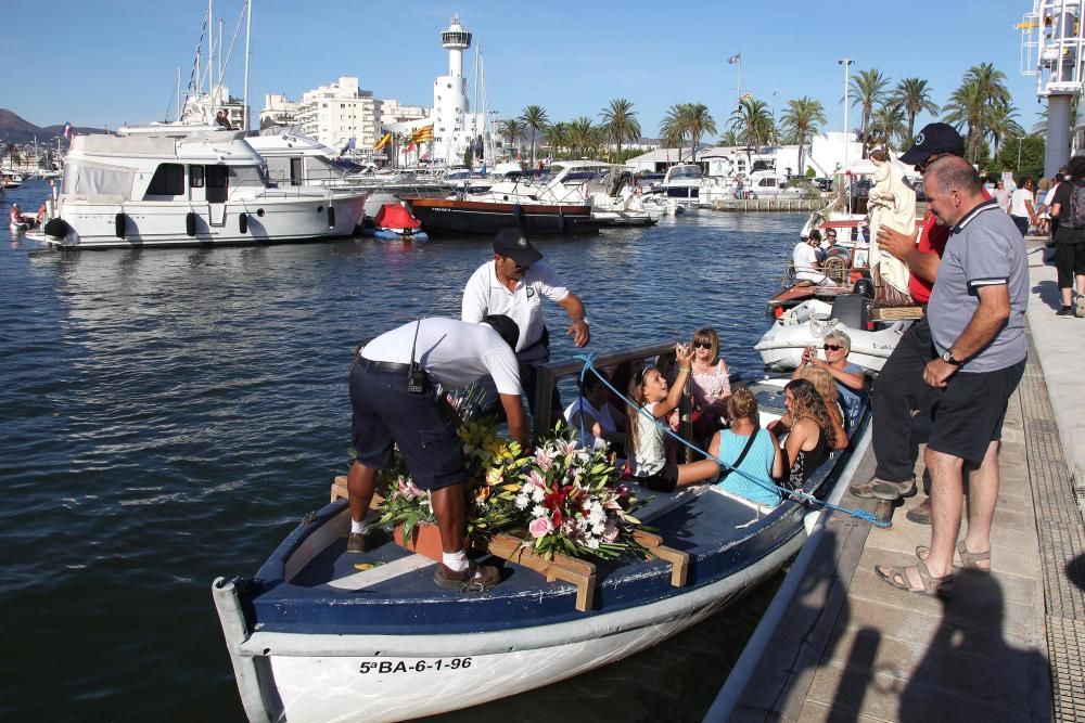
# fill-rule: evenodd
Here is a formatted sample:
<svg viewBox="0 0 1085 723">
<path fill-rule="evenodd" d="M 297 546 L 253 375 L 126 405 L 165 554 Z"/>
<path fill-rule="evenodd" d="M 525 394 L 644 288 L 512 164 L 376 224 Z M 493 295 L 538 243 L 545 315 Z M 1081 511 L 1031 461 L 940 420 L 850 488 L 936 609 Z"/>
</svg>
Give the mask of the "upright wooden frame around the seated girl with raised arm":
<svg viewBox="0 0 1085 723">
<path fill-rule="evenodd" d="M 649 361 L 651 360 L 651 361 Z M 595 369 L 602 372 L 609 367 L 620 367 L 623 364 L 633 364 L 633 373 L 642 373 L 643 365 L 646 362 L 660 372 L 672 378 L 669 373 L 675 371 L 677 367 L 677 360 L 675 357 L 675 343 L 674 341 L 659 341 L 655 344 L 649 344 L 641 347 L 631 347 L 627 349 L 620 349 L 617 351 L 607 352 L 597 354 L 591 358 L 591 364 Z M 538 367 L 538 376 L 535 388 L 535 428 L 536 429 L 549 429 L 553 426 L 554 422 L 559 416 L 562 415 L 563 410 L 553 409 L 553 390 L 557 388 L 558 383 L 565 377 L 576 376 L 579 377 L 582 371 L 584 370 L 583 359 L 567 359 L 551 361 Z M 592 372 L 588 372 L 591 374 Z M 609 379 L 608 379 L 609 380 Z M 692 429 L 692 393 L 689 387 L 690 379 L 687 377 L 687 388 L 686 393 L 682 395 L 682 400 L 678 405 L 678 413 L 681 418 L 681 425 L 679 429 L 679 435 L 682 439 L 690 440 L 693 438 Z M 616 387 L 623 395 L 626 393 L 626 389 Z M 687 448 L 687 460 L 692 454 L 692 451 Z"/>
</svg>

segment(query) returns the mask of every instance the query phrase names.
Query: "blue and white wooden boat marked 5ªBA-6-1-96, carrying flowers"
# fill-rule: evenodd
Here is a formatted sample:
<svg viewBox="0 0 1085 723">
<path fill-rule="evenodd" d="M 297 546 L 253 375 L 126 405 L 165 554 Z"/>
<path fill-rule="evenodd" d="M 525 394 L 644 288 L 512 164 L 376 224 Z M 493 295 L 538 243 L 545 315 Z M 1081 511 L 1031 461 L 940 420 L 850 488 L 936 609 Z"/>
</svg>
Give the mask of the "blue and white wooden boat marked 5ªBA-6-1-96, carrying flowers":
<svg viewBox="0 0 1085 723">
<path fill-rule="evenodd" d="M 751 383 L 763 423 L 783 413 L 787 379 Z M 846 485 L 866 405 L 850 410 L 852 444 L 805 491 Z M 574 584 L 505 563 L 505 580 L 464 595 L 433 584 L 431 560 L 392 543 L 347 555 L 349 511 L 306 518 L 253 578 L 213 594 L 252 721 L 394 721 L 544 686 L 651 647 L 776 573 L 806 540 L 809 503 L 761 507 L 715 486 L 655 495 L 638 517 L 667 559 L 596 563 L 590 604 Z M 371 566 L 371 567 L 370 567 Z M 359 569 L 368 568 L 368 569 Z M 676 584 L 677 583 L 677 584 Z M 583 599 L 580 601 L 583 602 Z"/>
</svg>

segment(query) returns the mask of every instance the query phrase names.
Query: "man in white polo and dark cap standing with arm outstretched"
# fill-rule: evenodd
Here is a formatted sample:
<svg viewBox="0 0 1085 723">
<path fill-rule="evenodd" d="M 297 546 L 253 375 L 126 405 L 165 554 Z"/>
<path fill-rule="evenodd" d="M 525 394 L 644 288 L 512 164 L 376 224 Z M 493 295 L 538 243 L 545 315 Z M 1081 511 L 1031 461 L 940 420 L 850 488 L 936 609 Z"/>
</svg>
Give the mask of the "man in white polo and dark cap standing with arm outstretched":
<svg viewBox="0 0 1085 723">
<path fill-rule="evenodd" d="M 542 255 L 518 229 L 494 237 L 494 260 L 483 263 L 463 288 L 461 319 L 480 322 L 487 314 L 503 314 L 520 326 L 516 358 L 527 403 L 535 412 L 536 367 L 550 361 L 550 334 L 542 321 L 542 297 L 562 307 L 572 323 L 567 333 L 583 347 L 591 340 L 584 304 L 570 292 Z M 554 390 L 557 397 L 557 390 Z M 552 409 L 561 409 L 556 399 Z"/>
</svg>

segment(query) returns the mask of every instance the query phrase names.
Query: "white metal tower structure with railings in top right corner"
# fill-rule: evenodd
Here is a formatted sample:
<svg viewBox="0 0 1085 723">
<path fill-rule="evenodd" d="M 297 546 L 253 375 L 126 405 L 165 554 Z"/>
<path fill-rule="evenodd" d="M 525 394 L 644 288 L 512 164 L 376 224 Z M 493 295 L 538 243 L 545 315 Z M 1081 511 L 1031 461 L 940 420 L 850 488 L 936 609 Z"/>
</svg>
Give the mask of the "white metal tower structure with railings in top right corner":
<svg viewBox="0 0 1085 723">
<path fill-rule="evenodd" d="M 1036 76 L 1036 94 L 1047 99 L 1044 176 L 1050 178 L 1070 159 L 1070 115 L 1085 80 L 1085 0 L 1034 0 L 1021 30 L 1021 72 Z M 1073 147 L 1085 151 L 1085 107 L 1077 106 Z"/>
</svg>

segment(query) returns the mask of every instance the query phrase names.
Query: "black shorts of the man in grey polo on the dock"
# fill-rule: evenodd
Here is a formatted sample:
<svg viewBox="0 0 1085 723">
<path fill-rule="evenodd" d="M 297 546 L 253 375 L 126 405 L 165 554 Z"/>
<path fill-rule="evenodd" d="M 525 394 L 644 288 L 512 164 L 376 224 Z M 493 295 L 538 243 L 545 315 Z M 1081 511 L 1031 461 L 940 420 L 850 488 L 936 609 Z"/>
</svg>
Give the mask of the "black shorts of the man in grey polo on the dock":
<svg viewBox="0 0 1085 723">
<path fill-rule="evenodd" d="M 994 372 L 957 372 L 931 412 L 927 447 L 979 464 L 991 442 L 1003 438 L 1006 405 L 1024 374 L 1024 359 Z"/>
</svg>

